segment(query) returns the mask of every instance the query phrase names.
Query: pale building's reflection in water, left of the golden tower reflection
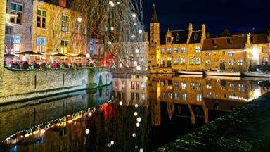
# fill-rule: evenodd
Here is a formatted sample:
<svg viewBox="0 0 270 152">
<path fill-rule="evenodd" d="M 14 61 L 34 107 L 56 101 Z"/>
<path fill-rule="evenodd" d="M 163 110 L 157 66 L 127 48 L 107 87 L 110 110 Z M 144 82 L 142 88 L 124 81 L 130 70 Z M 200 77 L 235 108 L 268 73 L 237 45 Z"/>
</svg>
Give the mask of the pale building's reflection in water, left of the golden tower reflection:
<svg viewBox="0 0 270 152">
<path fill-rule="evenodd" d="M 117 101 L 124 105 L 139 103 L 146 106 L 146 75 L 115 74 L 113 78 L 113 92 Z"/>
</svg>

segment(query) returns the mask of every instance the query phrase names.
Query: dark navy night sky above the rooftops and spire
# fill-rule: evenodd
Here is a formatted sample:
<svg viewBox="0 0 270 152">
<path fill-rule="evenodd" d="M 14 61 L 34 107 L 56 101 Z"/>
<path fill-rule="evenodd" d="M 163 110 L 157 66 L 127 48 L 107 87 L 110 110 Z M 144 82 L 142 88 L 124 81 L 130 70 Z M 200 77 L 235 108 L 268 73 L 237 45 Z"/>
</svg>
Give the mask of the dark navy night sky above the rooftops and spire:
<svg viewBox="0 0 270 152">
<path fill-rule="evenodd" d="M 144 24 L 149 30 L 153 0 L 143 0 Z M 204 23 L 215 36 L 225 28 L 231 32 L 270 28 L 270 0 L 155 0 L 160 30 L 199 30 Z"/>
</svg>

